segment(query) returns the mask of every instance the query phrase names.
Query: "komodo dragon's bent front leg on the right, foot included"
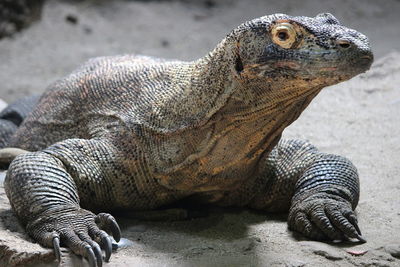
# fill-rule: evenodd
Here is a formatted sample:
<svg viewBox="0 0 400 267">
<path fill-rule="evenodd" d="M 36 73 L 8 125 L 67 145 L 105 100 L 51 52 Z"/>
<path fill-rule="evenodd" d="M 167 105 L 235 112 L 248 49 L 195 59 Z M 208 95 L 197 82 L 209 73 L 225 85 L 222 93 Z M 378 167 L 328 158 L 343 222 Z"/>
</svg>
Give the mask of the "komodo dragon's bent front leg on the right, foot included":
<svg viewBox="0 0 400 267">
<path fill-rule="evenodd" d="M 354 213 L 358 174 L 349 160 L 307 142 L 281 140 L 260 164 L 264 190 L 251 207 L 278 211 L 290 206 L 289 228 L 312 239 L 365 242 Z"/>
</svg>

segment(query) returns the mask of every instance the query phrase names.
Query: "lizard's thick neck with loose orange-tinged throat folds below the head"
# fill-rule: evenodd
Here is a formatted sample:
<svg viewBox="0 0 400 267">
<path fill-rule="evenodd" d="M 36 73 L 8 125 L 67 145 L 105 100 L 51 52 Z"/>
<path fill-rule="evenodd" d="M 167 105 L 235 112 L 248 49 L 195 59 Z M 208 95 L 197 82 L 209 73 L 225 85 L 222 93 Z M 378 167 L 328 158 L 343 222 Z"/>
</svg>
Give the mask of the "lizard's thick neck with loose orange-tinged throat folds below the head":
<svg viewBox="0 0 400 267">
<path fill-rule="evenodd" d="M 246 79 L 246 66 L 236 75 L 227 45 L 223 42 L 204 58 L 173 70 L 177 86 L 171 88 L 179 90 L 172 104 L 178 108 L 163 109 L 162 118 L 168 120 L 160 122 L 180 128 L 167 138 L 154 138 L 157 149 L 149 150 L 156 159 L 154 177 L 169 188 L 189 192 L 236 186 L 317 93 L 300 96 L 290 88 L 281 91 L 283 81 Z"/>
</svg>

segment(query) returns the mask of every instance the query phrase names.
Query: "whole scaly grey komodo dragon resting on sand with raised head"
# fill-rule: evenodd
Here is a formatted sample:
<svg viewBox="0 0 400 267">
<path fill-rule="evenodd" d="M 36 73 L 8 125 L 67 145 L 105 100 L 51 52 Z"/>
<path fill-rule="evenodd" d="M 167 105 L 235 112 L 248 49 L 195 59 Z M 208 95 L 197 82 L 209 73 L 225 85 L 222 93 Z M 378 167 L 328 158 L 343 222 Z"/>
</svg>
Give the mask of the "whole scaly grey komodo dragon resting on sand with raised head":
<svg viewBox="0 0 400 267">
<path fill-rule="evenodd" d="M 120 239 L 113 216 L 95 213 L 182 199 L 289 210 L 289 228 L 309 238 L 364 241 L 353 164 L 280 138 L 323 87 L 372 61 L 367 37 L 327 13 L 254 19 L 191 62 L 89 60 L 4 141 L 31 151 L 7 172 L 12 209 L 58 259 L 61 243 L 91 266 L 102 265 L 101 248 L 110 258 L 107 233 Z"/>
</svg>

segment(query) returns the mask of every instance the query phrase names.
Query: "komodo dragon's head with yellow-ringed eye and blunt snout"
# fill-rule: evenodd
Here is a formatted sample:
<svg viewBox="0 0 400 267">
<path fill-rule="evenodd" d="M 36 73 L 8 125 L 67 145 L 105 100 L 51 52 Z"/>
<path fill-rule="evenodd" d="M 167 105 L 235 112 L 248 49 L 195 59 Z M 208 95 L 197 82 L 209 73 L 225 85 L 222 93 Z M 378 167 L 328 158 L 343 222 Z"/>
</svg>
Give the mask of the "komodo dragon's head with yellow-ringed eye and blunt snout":
<svg viewBox="0 0 400 267">
<path fill-rule="evenodd" d="M 235 71 L 244 80 L 296 80 L 324 87 L 365 72 L 373 61 L 367 37 L 328 13 L 265 16 L 240 25 L 231 36 Z"/>
</svg>

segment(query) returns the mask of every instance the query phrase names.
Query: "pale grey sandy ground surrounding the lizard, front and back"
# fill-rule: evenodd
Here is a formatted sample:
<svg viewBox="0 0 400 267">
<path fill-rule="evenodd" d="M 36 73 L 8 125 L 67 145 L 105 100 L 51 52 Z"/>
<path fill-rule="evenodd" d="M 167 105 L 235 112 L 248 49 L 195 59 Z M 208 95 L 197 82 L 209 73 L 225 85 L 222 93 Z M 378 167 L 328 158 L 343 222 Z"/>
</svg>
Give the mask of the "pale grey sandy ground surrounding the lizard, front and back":
<svg viewBox="0 0 400 267">
<path fill-rule="evenodd" d="M 131 245 L 106 266 L 400 266 L 400 54 L 392 52 L 400 43 L 400 1 L 94 2 L 49 1 L 40 22 L 0 41 L 1 99 L 42 92 L 94 56 L 195 59 L 239 23 L 276 12 L 331 12 L 368 35 L 377 57 L 368 73 L 321 92 L 284 133 L 358 167 L 366 244 L 307 241 L 287 230 L 286 215 L 216 209 L 190 221 L 120 219 Z M 0 265 L 52 264 L 51 250 L 26 239 L 0 186 Z M 62 265 L 81 264 L 64 251 Z"/>
</svg>

